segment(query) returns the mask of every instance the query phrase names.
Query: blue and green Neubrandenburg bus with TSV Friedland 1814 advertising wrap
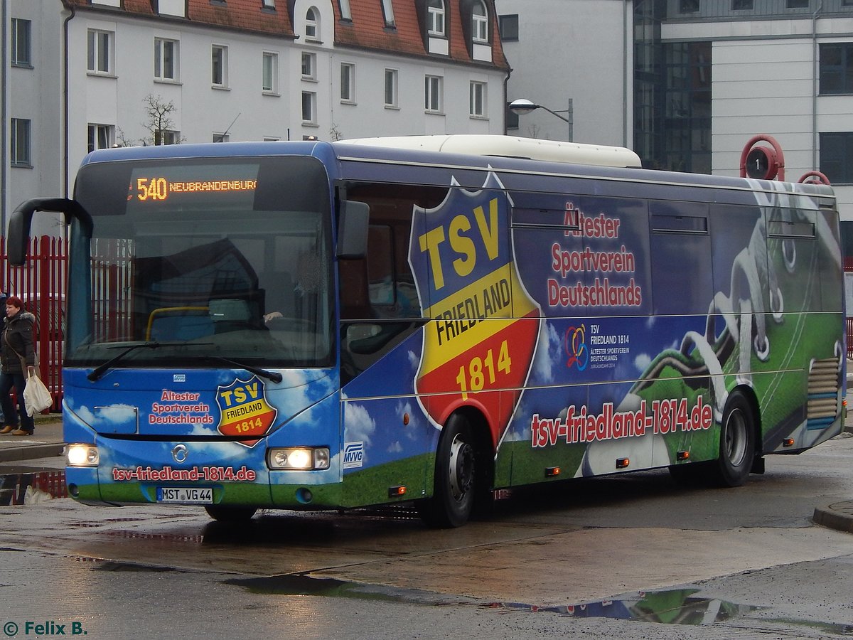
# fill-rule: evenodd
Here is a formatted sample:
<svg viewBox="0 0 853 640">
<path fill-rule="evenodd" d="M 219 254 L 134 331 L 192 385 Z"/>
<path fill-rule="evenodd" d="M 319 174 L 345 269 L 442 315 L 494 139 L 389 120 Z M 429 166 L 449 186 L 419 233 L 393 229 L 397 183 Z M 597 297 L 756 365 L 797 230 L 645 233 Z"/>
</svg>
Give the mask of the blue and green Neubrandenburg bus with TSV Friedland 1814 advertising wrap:
<svg viewBox="0 0 853 640">
<path fill-rule="evenodd" d="M 643 169 L 520 138 L 86 156 L 69 238 L 68 493 L 258 509 L 410 503 L 669 468 L 740 486 L 844 417 L 827 185 Z"/>
</svg>

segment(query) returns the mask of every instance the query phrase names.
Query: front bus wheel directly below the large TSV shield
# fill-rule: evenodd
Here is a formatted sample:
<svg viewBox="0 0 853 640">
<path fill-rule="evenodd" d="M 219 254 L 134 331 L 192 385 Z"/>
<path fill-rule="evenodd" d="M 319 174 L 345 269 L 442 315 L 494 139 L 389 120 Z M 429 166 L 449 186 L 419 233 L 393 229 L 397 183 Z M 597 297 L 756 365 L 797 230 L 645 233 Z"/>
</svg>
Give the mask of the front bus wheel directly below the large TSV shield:
<svg viewBox="0 0 853 640">
<path fill-rule="evenodd" d="M 430 527 L 461 527 L 471 517 L 477 482 L 473 430 L 464 416 L 450 416 L 438 439 L 432 498 L 421 505 Z"/>
</svg>

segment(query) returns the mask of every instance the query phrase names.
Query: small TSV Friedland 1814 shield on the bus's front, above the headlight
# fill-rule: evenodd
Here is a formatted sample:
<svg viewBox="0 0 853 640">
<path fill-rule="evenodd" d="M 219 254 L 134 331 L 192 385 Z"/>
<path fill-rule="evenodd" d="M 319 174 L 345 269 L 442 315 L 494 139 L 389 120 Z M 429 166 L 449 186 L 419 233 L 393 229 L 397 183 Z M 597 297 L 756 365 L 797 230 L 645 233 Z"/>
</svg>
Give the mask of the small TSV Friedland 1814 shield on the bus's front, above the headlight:
<svg viewBox="0 0 853 640">
<path fill-rule="evenodd" d="M 264 382 L 257 375 L 249 380 L 236 379 L 227 387 L 218 387 L 219 433 L 239 437 L 241 445 L 252 447 L 270 430 L 277 411 L 264 395 Z"/>
</svg>

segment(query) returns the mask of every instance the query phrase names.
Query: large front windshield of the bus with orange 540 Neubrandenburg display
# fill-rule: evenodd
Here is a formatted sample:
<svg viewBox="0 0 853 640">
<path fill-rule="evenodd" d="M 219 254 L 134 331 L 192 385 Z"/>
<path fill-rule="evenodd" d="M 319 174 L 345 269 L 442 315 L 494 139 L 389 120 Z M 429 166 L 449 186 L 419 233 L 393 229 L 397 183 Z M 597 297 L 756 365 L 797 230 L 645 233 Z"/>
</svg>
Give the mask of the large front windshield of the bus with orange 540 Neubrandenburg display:
<svg viewBox="0 0 853 640">
<path fill-rule="evenodd" d="M 332 363 L 331 214 L 316 160 L 96 163 L 76 197 L 95 231 L 88 252 L 72 250 L 67 364 L 125 350 L 132 366 Z"/>
</svg>

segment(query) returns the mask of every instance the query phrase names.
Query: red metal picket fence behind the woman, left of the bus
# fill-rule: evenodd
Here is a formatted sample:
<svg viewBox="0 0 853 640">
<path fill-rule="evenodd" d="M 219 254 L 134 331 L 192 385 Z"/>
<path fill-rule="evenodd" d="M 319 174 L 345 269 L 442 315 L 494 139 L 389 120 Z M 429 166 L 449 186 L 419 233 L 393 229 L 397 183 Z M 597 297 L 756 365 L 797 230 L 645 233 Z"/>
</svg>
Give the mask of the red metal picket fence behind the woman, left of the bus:
<svg viewBox="0 0 853 640">
<path fill-rule="evenodd" d="M 36 317 L 38 371 L 53 395 L 51 411 L 61 410 L 62 353 L 65 340 L 67 241 L 41 236 L 30 241 L 26 265 L 9 265 L 6 239 L 0 238 L 0 289 L 24 301 Z"/>
</svg>

